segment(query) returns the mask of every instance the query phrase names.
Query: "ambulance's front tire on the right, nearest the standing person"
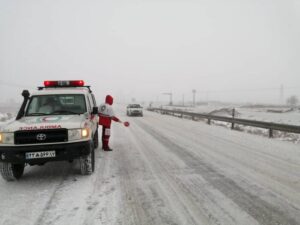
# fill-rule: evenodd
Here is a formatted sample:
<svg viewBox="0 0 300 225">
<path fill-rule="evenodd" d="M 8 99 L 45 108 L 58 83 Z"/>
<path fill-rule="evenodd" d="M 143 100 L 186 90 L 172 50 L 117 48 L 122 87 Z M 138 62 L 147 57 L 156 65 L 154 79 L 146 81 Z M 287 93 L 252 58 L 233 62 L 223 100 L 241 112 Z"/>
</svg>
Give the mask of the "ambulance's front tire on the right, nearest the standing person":
<svg viewBox="0 0 300 225">
<path fill-rule="evenodd" d="M 95 151 L 93 142 L 90 144 L 90 153 L 85 156 L 81 156 L 80 161 L 80 173 L 82 175 L 91 175 L 95 170 Z"/>
</svg>

